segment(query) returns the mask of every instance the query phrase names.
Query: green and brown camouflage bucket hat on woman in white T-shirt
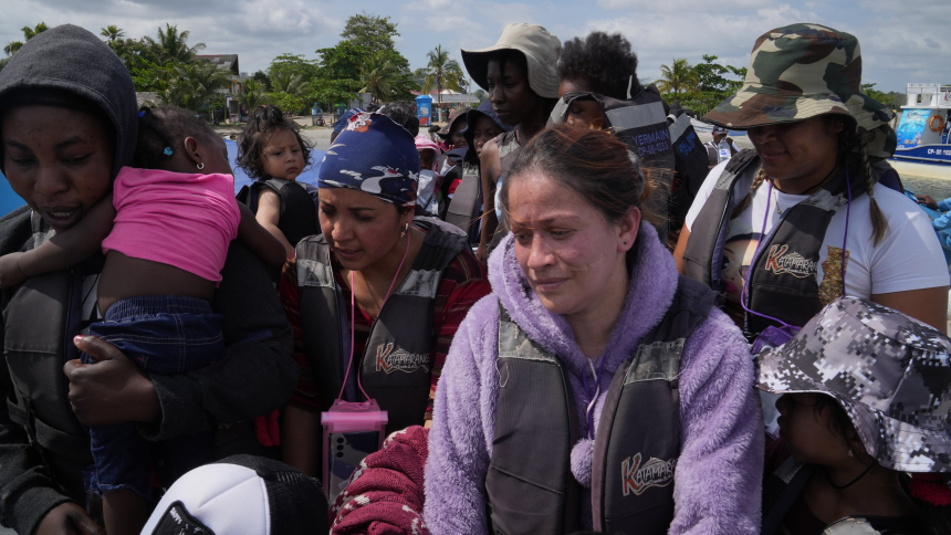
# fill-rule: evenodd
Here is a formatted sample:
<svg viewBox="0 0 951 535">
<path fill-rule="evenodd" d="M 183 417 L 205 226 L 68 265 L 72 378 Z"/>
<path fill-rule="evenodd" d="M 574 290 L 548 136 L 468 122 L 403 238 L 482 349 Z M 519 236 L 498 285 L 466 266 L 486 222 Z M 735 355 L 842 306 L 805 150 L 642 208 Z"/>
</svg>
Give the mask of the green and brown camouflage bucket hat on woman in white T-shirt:
<svg viewBox="0 0 951 535">
<path fill-rule="evenodd" d="M 740 91 L 703 116 L 732 129 L 793 123 L 817 115 L 851 117 L 869 156 L 895 153 L 895 115 L 861 91 L 858 40 L 821 24 L 800 23 L 756 40 Z"/>
</svg>

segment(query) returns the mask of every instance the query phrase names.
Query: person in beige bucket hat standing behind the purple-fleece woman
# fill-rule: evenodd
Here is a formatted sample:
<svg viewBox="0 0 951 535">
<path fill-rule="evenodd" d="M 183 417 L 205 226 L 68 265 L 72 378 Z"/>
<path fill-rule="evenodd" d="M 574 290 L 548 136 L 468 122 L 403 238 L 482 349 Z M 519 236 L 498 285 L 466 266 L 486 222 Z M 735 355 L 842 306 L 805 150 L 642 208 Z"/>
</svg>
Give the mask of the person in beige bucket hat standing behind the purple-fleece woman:
<svg viewBox="0 0 951 535">
<path fill-rule="evenodd" d="M 494 244 L 508 233 L 501 210 L 497 208 L 500 206 L 498 186 L 519 149 L 545 127 L 557 102 L 561 51 L 558 38 L 537 24 L 526 23 L 506 25 L 493 46 L 462 50 L 462 62 L 469 75 L 489 92 L 499 120 L 513 127 L 512 132 L 487 143 L 479 157 L 484 217 L 477 256 L 483 264 Z"/>
</svg>

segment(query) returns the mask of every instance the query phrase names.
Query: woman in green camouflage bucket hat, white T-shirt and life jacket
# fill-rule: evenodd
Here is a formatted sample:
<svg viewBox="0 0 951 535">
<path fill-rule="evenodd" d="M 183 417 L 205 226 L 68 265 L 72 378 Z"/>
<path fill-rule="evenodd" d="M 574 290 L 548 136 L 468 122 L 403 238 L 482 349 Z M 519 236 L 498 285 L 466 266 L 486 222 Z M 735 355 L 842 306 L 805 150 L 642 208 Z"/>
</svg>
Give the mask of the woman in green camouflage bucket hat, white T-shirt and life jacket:
<svg viewBox="0 0 951 535">
<path fill-rule="evenodd" d="M 707 114 L 755 150 L 710 171 L 675 259 L 749 337 L 793 332 L 843 295 L 945 329 L 941 245 L 885 161 L 891 115 L 861 92 L 858 40 L 814 23 L 761 35 L 744 85 Z"/>
</svg>

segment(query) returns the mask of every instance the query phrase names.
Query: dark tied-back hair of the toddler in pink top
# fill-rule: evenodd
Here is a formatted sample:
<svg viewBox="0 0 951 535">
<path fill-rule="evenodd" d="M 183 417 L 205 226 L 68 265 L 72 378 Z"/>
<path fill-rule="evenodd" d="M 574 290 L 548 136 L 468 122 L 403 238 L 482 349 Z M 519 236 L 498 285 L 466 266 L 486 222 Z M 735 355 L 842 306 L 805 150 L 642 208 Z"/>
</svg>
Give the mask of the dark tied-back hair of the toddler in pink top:
<svg viewBox="0 0 951 535">
<path fill-rule="evenodd" d="M 195 112 L 178 106 L 144 106 L 138 111 L 138 141 L 132 165 L 139 169 L 165 169 L 186 137 L 203 143 L 217 135 Z"/>
</svg>

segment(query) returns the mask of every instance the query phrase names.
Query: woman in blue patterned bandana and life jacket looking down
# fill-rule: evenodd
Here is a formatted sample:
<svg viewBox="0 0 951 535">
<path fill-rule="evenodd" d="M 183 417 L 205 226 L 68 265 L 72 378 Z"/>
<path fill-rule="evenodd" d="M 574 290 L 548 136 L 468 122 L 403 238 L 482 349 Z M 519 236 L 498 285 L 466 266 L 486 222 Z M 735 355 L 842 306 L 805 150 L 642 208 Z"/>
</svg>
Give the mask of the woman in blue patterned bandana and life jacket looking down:
<svg viewBox="0 0 951 535">
<path fill-rule="evenodd" d="M 418 176 L 412 136 L 380 114 L 351 117 L 321 166 L 324 233 L 297 244 L 281 284 L 302 368 L 283 453 L 309 475 L 336 399 L 375 399 L 387 433 L 428 423 L 456 328 L 489 293 L 462 231 L 414 219 Z"/>
</svg>

